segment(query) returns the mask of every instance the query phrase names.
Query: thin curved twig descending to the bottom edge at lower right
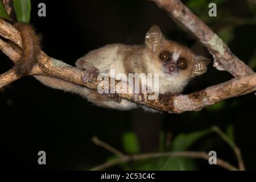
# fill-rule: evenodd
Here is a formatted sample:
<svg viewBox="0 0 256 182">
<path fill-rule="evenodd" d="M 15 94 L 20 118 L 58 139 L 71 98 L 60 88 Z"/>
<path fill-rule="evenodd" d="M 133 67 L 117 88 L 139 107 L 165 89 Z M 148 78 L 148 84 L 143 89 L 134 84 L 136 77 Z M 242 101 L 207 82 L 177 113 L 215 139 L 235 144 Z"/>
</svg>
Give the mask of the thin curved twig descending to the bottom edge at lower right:
<svg viewBox="0 0 256 182">
<path fill-rule="evenodd" d="M 243 159 L 242 159 L 240 148 L 238 148 L 236 146 L 236 144 L 223 131 L 221 131 L 217 126 L 213 126 L 212 130 L 214 132 L 216 132 L 218 135 L 220 135 L 220 137 L 226 143 L 229 144 L 229 146 L 233 149 L 233 151 L 235 152 L 235 154 L 237 156 L 237 162 L 238 162 L 238 166 L 239 166 L 240 171 L 245 171 L 245 165 L 243 164 Z"/>
</svg>

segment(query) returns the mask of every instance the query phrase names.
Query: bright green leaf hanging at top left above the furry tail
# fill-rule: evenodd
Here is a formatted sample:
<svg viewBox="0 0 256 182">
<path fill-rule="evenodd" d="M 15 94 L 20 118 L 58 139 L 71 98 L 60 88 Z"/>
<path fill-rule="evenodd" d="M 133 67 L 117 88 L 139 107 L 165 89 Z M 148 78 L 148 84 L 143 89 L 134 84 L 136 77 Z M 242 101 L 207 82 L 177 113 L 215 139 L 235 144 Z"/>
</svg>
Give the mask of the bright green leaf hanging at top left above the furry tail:
<svg viewBox="0 0 256 182">
<path fill-rule="evenodd" d="M 31 2 L 30 0 L 14 0 L 14 9 L 18 22 L 30 22 Z"/>
</svg>

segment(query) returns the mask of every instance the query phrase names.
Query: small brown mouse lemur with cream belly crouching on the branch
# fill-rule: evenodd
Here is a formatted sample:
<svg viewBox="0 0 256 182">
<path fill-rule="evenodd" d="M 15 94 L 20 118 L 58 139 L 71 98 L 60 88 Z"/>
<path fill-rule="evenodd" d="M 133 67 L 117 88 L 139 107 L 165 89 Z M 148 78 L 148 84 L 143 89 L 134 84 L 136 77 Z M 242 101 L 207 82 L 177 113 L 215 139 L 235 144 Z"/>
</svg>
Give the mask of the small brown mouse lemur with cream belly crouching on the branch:
<svg viewBox="0 0 256 182">
<path fill-rule="evenodd" d="M 30 27 L 26 28 L 30 30 Z M 28 36 L 27 31 L 20 27 L 18 29 L 23 40 L 23 52 L 25 52 L 23 58 L 31 57 L 27 63 L 24 63 L 24 59 L 21 58 L 22 61 L 16 66 L 17 70 L 24 74 L 36 63 L 35 55 L 39 52 L 40 46 L 38 38 L 34 38 L 36 37 L 34 33 Z M 85 75 L 81 78 L 83 82 L 90 81 L 92 76 L 97 76 L 99 73 L 109 74 L 110 69 L 115 69 L 115 74 L 125 73 L 127 77 L 129 73 L 158 73 L 159 94 L 181 93 L 191 78 L 207 71 L 207 64 L 209 64 L 209 59 L 195 55 L 189 48 L 165 39 L 156 25 L 153 25 L 146 33 L 144 45 L 108 44 L 88 52 L 76 61 L 76 67 L 85 70 Z M 118 94 L 100 94 L 97 90 L 57 78 L 35 77 L 44 85 L 80 94 L 97 106 L 119 110 L 139 107 L 135 102 L 119 98 Z M 147 106 L 142 107 L 145 110 L 154 111 Z"/>
</svg>

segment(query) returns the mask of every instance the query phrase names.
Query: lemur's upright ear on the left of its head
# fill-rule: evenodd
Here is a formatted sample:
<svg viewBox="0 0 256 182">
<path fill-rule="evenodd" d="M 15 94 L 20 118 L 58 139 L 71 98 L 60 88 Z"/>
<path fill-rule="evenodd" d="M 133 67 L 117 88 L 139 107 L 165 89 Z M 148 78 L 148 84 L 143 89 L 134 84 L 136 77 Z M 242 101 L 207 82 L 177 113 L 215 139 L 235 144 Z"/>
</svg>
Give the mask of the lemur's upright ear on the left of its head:
<svg viewBox="0 0 256 182">
<path fill-rule="evenodd" d="M 146 34 L 145 45 L 150 49 L 150 52 L 155 53 L 162 42 L 163 34 L 160 28 L 154 24 Z"/>
</svg>

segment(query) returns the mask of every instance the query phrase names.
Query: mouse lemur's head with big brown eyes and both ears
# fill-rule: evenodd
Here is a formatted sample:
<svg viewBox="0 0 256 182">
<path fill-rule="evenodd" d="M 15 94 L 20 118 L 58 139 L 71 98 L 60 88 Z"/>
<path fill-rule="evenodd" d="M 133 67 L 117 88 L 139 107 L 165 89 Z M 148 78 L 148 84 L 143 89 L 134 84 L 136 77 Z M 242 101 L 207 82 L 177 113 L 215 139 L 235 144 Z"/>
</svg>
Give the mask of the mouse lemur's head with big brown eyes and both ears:
<svg viewBox="0 0 256 182">
<path fill-rule="evenodd" d="M 155 61 L 154 67 L 166 73 L 166 76 L 188 79 L 207 72 L 208 58 L 195 55 L 189 48 L 164 39 L 156 25 L 147 32 L 145 44 L 152 61 Z"/>
</svg>

